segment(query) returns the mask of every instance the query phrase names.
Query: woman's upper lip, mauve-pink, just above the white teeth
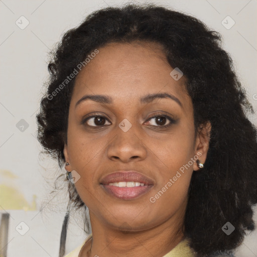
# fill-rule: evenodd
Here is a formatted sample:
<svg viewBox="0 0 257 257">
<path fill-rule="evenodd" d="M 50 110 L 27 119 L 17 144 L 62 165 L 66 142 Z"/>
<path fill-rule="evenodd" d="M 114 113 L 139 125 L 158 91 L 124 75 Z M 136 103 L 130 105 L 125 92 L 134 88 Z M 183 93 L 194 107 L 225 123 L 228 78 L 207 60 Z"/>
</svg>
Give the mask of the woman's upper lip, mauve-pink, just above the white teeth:
<svg viewBox="0 0 257 257">
<path fill-rule="evenodd" d="M 153 185 L 154 181 L 145 175 L 137 172 L 137 171 L 116 171 L 114 173 L 108 174 L 100 181 L 100 184 L 108 185 L 109 183 L 114 182 L 140 182 L 144 183 L 145 185 Z"/>
</svg>

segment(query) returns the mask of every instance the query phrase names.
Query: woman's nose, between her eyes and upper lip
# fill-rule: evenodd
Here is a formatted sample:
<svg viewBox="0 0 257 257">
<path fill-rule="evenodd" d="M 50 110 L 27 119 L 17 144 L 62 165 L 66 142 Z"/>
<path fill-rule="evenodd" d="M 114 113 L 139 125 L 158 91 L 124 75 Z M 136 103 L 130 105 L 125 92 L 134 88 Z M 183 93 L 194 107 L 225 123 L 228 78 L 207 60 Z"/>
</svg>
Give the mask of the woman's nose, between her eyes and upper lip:
<svg viewBox="0 0 257 257">
<path fill-rule="evenodd" d="M 129 163 L 142 161 L 147 157 L 147 148 L 143 137 L 136 133 L 133 126 L 127 132 L 117 127 L 117 134 L 107 148 L 107 156 L 112 161 Z"/>
</svg>

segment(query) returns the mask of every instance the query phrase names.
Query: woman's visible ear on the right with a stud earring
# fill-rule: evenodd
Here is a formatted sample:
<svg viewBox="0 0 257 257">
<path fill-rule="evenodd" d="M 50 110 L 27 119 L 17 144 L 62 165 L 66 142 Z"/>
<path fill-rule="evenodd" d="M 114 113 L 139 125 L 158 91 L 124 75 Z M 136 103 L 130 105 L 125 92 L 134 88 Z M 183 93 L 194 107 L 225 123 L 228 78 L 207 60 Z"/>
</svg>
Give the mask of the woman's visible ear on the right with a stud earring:
<svg viewBox="0 0 257 257">
<path fill-rule="evenodd" d="M 210 133 L 211 123 L 210 121 L 207 121 L 205 124 L 200 125 L 198 135 L 196 136 L 195 155 L 199 157 L 198 160 L 202 164 L 204 164 L 206 161 L 207 152 L 209 149 Z M 200 170 L 196 162 L 194 162 L 193 170 Z"/>
</svg>

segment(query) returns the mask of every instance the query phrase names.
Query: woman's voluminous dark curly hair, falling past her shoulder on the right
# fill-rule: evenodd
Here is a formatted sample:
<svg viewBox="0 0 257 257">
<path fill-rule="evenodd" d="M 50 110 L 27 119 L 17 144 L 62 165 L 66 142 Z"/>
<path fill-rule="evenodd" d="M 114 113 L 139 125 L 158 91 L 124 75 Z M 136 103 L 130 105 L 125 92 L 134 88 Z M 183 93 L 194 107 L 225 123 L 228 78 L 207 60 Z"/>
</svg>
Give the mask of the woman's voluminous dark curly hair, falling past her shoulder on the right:
<svg viewBox="0 0 257 257">
<path fill-rule="evenodd" d="M 68 30 L 51 52 L 47 92 L 37 114 L 38 140 L 62 168 L 75 78 L 57 88 L 95 49 L 136 41 L 163 46 L 170 66 L 179 67 L 186 78 L 195 129 L 211 123 L 204 168 L 193 172 L 188 190 L 184 234 L 190 247 L 198 256 L 235 249 L 245 230 L 254 229 L 257 131 L 247 118 L 254 111 L 232 58 L 221 47 L 221 35 L 195 17 L 155 4 L 127 4 L 97 10 Z M 86 209 L 74 184 L 67 184 L 69 206 Z M 230 235 L 222 231 L 226 222 L 235 228 Z"/>
</svg>

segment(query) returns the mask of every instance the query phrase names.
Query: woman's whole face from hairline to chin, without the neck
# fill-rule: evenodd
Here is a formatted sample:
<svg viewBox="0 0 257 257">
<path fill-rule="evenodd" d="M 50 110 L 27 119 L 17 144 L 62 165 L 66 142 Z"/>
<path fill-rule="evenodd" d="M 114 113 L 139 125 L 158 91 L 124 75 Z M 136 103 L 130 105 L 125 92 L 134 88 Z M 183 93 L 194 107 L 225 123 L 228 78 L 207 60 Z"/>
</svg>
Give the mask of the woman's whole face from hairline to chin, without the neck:
<svg viewBox="0 0 257 257">
<path fill-rule="evenodd" d="M 173 68 L 154 43 L 98 50 L 76 77 L 64 148 L 90 219 L 131 231 L 183 222 L 195 161 L 204 163 L 208 148 L 206 138 L 194 139 L 184 77 L 170 75 Z M 148 97 L 154 94 L 167 97 Z M 109 185 L 117 180 L 123 183 Z"/>
</svg>

